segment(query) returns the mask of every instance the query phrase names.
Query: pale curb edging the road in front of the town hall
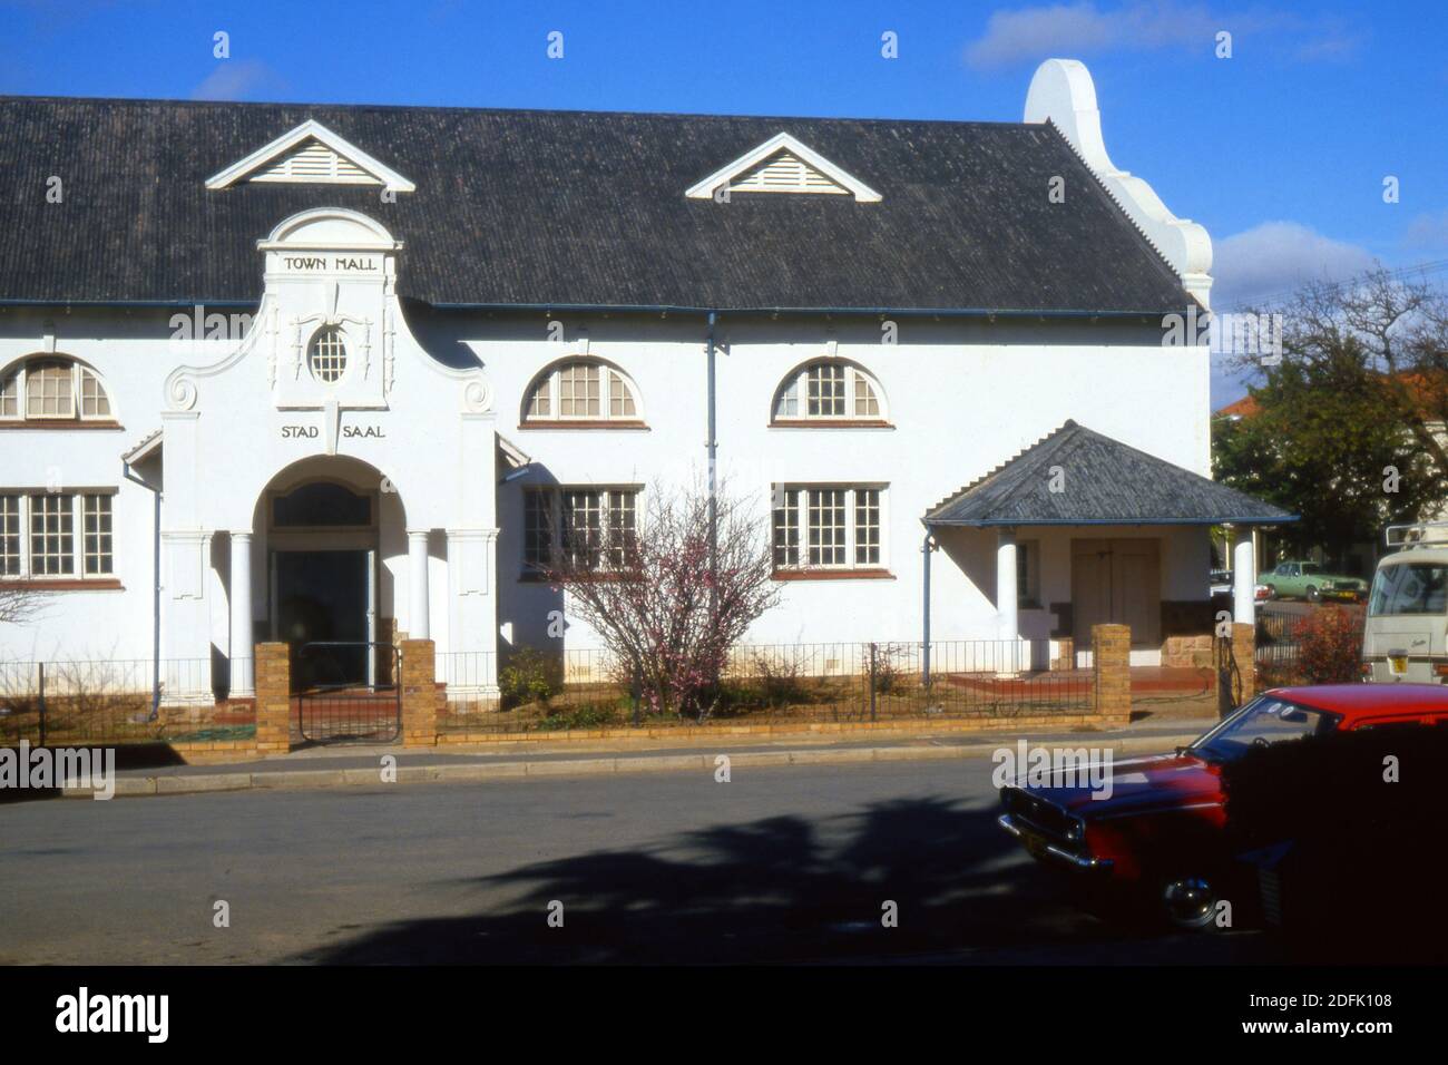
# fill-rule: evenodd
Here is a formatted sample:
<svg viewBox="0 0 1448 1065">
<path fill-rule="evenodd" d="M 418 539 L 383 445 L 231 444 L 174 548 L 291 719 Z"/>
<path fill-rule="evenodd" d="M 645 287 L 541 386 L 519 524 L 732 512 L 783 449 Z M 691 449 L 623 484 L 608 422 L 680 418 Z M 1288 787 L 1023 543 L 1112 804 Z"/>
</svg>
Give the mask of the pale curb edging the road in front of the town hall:
<svg viewBox="0 0 1448 1065">
<path fill-rule="evenodd" d="M 1200 733 L 1132 736 L 1111 743 L 1112 758 L 1158 753 L 1189 743 Z M 1085 739 L 1085 738 L 1083 738 Z M 1082 746 L 1087 746 L 1082 743 Z M 730 767 L 850 765 L 860 762 L 940 761 L 989 756 L 1001 743 L 938 743 L 918 746 L 844 748 L 838 751 L 743 751 L 728 755 Z M 656 755 L 624 758 L 565 758 L 544 762 L 479 762 L 475 765 L 400 765 L 398 784 L 484 782 L 529 777 L 601 777 L 636 772 L 711 772 L 718 755 Z M 376 769 L 282 769 L 277 772 L 219 772 L 169 777 L 117 777 L 116 797 L 185 795 L 217 791 L 310 791 L 375 787 Z M 93 798 L 94 788 L 65 788 L 64 798 Z"/>
</svg>

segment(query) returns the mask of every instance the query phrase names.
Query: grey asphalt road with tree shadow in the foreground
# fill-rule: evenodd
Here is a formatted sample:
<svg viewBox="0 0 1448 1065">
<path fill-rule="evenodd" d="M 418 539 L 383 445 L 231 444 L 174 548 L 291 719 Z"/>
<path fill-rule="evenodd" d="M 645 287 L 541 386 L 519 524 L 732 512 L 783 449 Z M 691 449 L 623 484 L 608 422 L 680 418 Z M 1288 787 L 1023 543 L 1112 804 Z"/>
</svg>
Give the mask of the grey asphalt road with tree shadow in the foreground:
<svg viewBox="0 0 1448 1065">
<path fill-rule="evenodd" d="M 995 827 L 990 769 L 13 803 L 0 962 L 1267 959 L 1250 932 L 1160 936 L 1077 909 Z"/>
</svg>

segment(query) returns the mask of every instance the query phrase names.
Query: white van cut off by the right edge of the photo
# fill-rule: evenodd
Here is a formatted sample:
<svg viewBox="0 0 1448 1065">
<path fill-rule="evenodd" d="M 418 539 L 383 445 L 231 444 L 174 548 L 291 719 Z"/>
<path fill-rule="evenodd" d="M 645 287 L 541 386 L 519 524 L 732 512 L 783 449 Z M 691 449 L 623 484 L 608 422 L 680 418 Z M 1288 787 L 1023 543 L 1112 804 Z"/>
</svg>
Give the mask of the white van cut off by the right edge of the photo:
<svg viewBox="0 0 1448 1065">
<path fill-rule="evenodd" d="M 1394 525 L 1367 598 L 1363 674 L 1374 684 L 1448 684 L 1448 522 Z"/>
</svg>

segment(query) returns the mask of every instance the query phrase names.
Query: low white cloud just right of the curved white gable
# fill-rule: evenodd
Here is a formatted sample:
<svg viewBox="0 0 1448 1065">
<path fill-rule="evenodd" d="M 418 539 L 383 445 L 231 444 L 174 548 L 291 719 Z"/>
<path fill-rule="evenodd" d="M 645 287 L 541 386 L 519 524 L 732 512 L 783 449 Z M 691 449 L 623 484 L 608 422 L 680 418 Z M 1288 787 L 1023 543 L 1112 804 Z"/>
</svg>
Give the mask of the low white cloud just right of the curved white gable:
<svg viewBox="0 0 1448 1065">
<path fill-rule="evenodd" d="M 1212 252 L 1213 310 L 1277 301 L 1308 281 L 1341 281 L 1376 265 L 1365 248 L 1297 222 L 1264 222 L 1215 242 Z"/>
</svg>

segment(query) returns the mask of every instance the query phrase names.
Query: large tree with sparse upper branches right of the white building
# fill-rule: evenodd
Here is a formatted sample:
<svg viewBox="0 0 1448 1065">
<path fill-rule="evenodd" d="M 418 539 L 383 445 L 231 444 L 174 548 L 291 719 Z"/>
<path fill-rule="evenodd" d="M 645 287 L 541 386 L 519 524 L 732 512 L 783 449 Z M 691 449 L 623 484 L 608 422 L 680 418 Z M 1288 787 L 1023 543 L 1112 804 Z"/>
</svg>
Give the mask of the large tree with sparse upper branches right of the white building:
<svg viewBox="0 0 1448 1065">
<path fill-rule="evenodd" d="M 1384 525 L 1435 516 L 1448 494 L 1444 293 L 1378 270 L 1308 285 L 1281 317 L 1280 359 L 1237 359 L 1260 371 L 1258 410 L 1213 425 L 1216 477 L 1300 514 L 1281 530 L 1299 552 L 1341 558 Z"/>
</svg>

